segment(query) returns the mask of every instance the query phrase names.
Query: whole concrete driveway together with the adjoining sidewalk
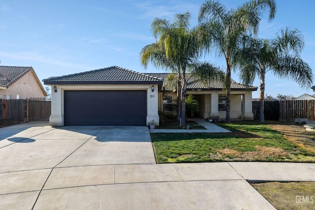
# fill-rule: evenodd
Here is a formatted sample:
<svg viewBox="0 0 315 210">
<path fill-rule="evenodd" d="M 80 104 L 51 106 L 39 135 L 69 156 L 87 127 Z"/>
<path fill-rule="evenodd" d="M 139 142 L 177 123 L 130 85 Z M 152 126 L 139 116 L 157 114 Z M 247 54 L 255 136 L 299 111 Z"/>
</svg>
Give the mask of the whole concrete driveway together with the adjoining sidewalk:
<svg viewBox="0 0 315 210">
<path fill-rule="evenodd" d="M 315 164 L 155 164 L 147 127 L 14 125 L 0 129 L 0 160 L 5 210 L 268 210 L 247 180 L 315 180 Z"/>
</svg>

